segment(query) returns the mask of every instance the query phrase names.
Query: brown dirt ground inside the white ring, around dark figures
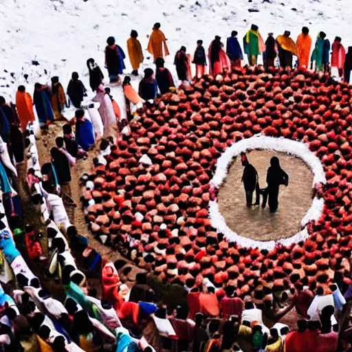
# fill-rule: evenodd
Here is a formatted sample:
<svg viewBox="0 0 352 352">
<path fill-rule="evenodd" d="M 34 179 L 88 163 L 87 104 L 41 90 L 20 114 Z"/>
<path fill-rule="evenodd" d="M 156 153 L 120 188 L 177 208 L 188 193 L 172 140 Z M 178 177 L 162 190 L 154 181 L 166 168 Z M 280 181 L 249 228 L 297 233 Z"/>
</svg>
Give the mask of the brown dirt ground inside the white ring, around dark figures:
<svg viewBox="0 0 352 352">
<path fill-rule="evenodd" d="M 271 241 L 292 236 L 300 230 L 300 221 L 311 206 L 313 174 L 303 160 L 285 153 L 251 151 L 248 159 L 259 174 L 259 185 L 266 186 L 270 158 L 277 156 L 289 175 L 289 186 L 281 186 L 276 213 L 261 206 L 248 208 L 241 182 L 243 167 L 237 157 L 230 166 L 228 177 L 219 190 L 219 207 L 229 228 L 241 236 L 257 241 Z M 255 192 L 253 203 L 255 201 Z"/>
</svg>

